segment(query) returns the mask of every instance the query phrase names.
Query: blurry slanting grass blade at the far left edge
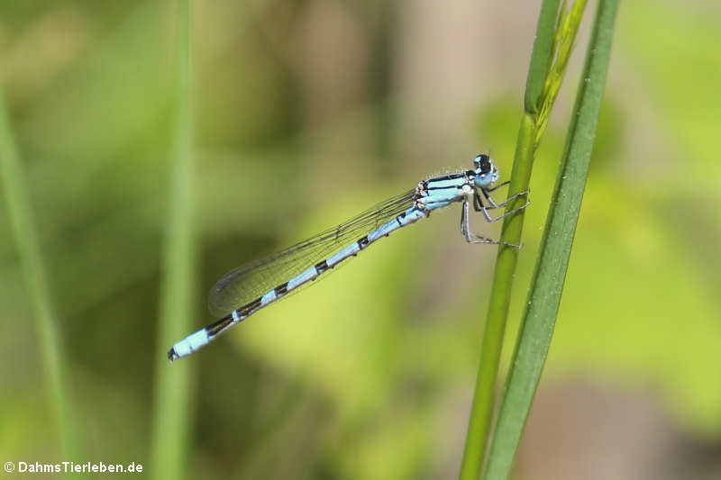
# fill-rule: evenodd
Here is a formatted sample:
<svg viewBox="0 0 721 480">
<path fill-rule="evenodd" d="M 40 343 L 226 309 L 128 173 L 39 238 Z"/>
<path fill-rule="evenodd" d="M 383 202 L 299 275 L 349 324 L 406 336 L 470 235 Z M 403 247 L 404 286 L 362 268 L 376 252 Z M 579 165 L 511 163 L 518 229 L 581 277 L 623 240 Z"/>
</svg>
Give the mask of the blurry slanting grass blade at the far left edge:
<svg viewBox="0 0 721 480">
<path fill-rule="evenodd" d="M 30 294 L 35 327 L 40 336 L 41 365 L 48 384 L 50 407 L 58 422 L 62 455 L 81 459 L 76 433 L 76 406 L 71 395 L 68 360 L 59 335 L 58 316 L 50 298 L 40 241 L 35 232 L 23 168 L 15 147 L 5 98 L 0 90 L 0 177 L 2 177 L 10 228 L 17 246 L 20 267 Z"/>
</svg>

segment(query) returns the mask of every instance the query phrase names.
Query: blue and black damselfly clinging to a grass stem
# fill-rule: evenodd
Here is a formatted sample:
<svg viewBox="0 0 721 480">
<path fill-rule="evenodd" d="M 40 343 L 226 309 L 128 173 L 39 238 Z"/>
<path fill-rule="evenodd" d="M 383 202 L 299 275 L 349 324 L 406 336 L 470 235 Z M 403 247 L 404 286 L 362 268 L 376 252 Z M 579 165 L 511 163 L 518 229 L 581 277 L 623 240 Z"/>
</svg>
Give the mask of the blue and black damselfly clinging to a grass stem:
<svg viewBox="0 0 721 480">
<path fill-rule="evenodd" d="M 497 217 L 491 217 L 488 210 L 502 207 L 520 195 L 527 195 L 528 191 L 511 195 L 497 204 L 490 193 L 508 182 L 493 186 L 498 180 L 498 169 L 488 155 L 477 156 L 473 164 L 473 170 L 424 180 L 414 189 L 389 198 L 347 222 L 227 273 L 214 285 L 208 298 L 210 311 L 223 318 L 178 341 L 169 350 L 168 358 L 187 357 L 269 303 L 278 302 L 297 288 L 309 285 L 346 258 L 354 257 L 374 241 L 388 237 L 391 231 L 455 202 L 462 204 L 461 234 L 466 241 L 517 248 L 517 245 L 470 232 L 469 197 L 472 196 L 476 212 L 483 213 L 486 221 L 496 222 L 524 209 L 528 202 Z"/>
</svg>

